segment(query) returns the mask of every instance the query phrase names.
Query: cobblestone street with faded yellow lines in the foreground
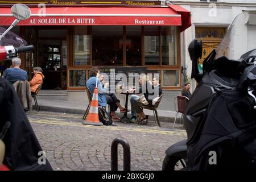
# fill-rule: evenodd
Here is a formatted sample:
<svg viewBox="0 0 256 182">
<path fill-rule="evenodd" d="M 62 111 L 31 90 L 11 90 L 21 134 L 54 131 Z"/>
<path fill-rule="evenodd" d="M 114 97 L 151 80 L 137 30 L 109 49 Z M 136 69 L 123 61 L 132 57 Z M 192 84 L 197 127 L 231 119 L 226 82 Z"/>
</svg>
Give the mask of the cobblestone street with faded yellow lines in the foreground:
<svg viewBox="0 0 256 182">
<path fill-rule="evenodd" d="M 111 168 L 111 143 L 125 138 L 131 148 L 131 170 L 162 170 L 165 151 L 187 137 L 173 123 L 155 121 L 147 125 L 117 123 L 118 126 L 82 125 L 82 115 L 31 111 L 28 119 L 54 170 L 106 170 Z M 123 150 L 118 147 L 118 169 L 122 170 Z"/>
</svg>

